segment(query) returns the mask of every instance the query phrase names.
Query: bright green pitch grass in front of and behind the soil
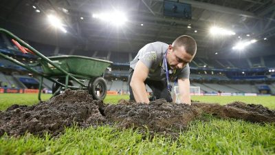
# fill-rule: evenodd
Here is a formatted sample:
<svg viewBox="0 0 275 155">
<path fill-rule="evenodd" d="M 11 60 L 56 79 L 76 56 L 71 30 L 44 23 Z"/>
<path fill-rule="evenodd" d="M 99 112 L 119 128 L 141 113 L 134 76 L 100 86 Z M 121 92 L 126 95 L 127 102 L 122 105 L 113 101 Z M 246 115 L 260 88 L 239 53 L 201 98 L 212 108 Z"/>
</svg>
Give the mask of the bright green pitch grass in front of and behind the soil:
<svg viewBox="0 0 275 155">
<path fill-rule="evenodd" d="M 43 99 L 50 96 L 43 96 Z M 107 96 L 104 103 L 117 103 L 128 96 Z M 261 103 L 274 108 L 274 96 L 192 96 L 207 103 Z M 0 109 L 13 103 L 38 103 L 34 94 L 0 94 Z M 5 106 L 2 106 L 5 105 Z M 190 123 L 177 139 L 156 135 L 151 139 L 137 130 L 115 127 L 67 128 L 58 138 L 26 134 L 19 138 L 2 136 L 0 154 L 275 154 L 275 125 L 248 123 L 205 116 L 207 121 Z"/>
</svg>

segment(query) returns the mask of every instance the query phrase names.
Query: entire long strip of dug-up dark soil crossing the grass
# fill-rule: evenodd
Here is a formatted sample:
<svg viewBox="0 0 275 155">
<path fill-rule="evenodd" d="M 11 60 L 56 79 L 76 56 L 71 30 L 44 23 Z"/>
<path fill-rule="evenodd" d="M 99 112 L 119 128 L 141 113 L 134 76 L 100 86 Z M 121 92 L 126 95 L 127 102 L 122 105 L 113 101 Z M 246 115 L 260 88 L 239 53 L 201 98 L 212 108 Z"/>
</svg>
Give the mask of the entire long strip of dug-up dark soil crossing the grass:
<svg viewBox="0 0 275 155">
<path fill-rule="evenodd" d="M 234 102 L 228 105 L 193 102 L 192 105 L 167 103 L 164 99 L 149 104 L 121 100 L 117 105 L 94 101 L 84 90 L 66 90 L 49 101 L 36 105 L 12 105 L 0 111 L 0 136 L 19 136 L 30 132 L 54 136 L 65 127 L 117 125 L 138 128 L 151 133 L 178 134 L 190 121 L 202 114 L 220 118 L 240 118 L 245 121 L 274 123 L 275 111 L 262 105 Z"/>
</svg>

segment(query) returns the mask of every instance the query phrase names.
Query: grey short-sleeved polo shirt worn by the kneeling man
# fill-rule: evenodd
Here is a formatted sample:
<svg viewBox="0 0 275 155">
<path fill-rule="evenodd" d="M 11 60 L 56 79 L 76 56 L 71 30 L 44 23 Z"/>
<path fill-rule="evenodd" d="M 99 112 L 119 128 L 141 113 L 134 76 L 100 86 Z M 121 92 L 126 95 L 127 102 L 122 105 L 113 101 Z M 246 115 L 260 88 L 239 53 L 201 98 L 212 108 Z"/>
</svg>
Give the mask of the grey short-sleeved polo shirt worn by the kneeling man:
<svg viewBox="0 0 275 155">
<path fill-rule="evenodd" d="M 168 44 L 162 42 L 148 43 L 145 45 L 135 56 L 135 59 L 130 62 L 130 68 L 135 70 L 137 61 L 142 61 L 149 69 L 147 79 L 155 81 L 166 80 L 166 69 L 164 65 L 164 54 L 168 49 Z M 187 64 L 186 67 L 178 70 L 169 70 L 169 80 L 175 79 L 189 79 L 190 68 Z"/>
</svg>

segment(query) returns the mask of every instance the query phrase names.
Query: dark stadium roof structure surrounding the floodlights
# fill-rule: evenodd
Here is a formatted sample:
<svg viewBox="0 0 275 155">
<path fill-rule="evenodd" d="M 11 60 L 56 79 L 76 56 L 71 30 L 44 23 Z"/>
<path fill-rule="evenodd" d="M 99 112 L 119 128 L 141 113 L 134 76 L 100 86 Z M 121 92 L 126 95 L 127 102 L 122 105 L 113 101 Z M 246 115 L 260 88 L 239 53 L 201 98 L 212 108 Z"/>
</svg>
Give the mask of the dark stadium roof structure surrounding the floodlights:
<svg viewBox="0 0 275 155">
<path fill-rule="evenodd" d="M 190 4 L 192 19 L 164 16 L 163 0 L 1 0 L 0 27 L 23 39 L 68 48 L 137 52 L 146 43 L 172 43 L 179 35 L 187 34 L 196 39 L 199 56 L 228 54 L 234 43 L 246 39 L 258 41 L 250 54 L 274 54 L 273 0 L 174 2 Z M 92 18 L 93 13 L 113 10 L 126 14 L 128 21 L 121 27 Z M 67 33 L 49 28 L 45 19 L 52 12 L 61 17 Z M 233 30 L 236 35 L 212 37 L 212 25 Z"/>
</svg>

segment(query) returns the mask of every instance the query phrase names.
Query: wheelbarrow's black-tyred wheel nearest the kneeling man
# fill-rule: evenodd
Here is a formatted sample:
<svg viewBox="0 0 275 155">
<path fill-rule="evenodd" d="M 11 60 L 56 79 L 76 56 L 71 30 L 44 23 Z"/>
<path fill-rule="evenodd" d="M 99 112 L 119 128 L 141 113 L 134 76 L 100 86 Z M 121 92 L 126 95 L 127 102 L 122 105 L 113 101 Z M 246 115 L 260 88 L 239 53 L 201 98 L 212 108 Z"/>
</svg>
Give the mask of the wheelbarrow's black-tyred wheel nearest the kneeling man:
<svg viewBox="0 0 275 155">
<path fill-rule="evenodd" d="M 107 83 L 102 77 L 96 77 L 89 81 L 88 92 L 95 100 L 103 100 L 107 94 Z"/>
</svg>

